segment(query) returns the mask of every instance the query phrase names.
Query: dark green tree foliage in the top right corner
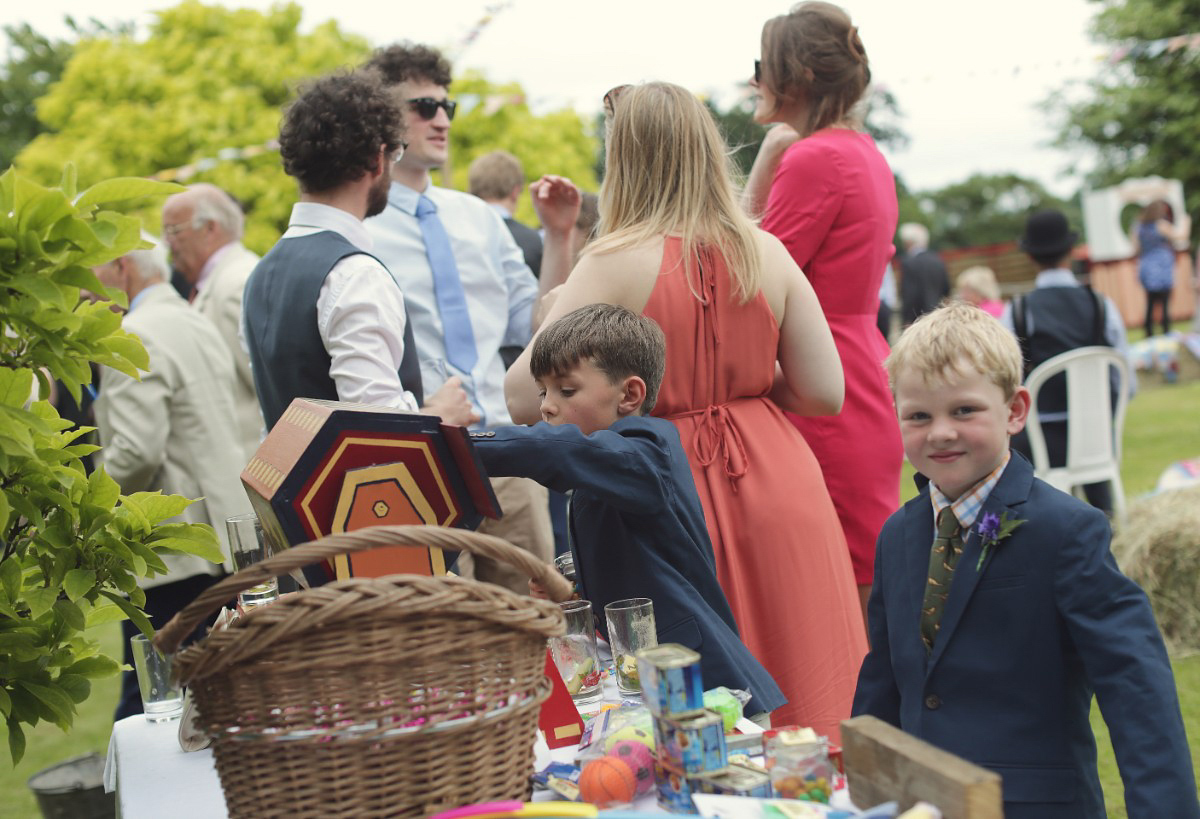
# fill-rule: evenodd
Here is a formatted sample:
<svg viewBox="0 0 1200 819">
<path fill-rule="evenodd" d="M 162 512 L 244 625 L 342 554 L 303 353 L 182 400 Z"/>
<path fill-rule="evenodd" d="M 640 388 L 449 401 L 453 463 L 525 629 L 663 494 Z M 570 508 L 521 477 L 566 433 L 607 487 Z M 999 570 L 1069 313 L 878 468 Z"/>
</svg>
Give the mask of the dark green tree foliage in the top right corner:
<svg viewBox="0 0 1200 819">
<path fill-rule="evenodd" d="M 1098 166 L 1090 181 L 1111 185 L 1127 178 L 1158 175 L 1183 181 L 1188 210 L 1200 209 L 1200 55 L 1170 50 L 1154 41 L 1200 31 L 1200 0 L 1110 1 L 1096 17 L 1093 34 L 1129 53 L 1090 85 L 1091 97 L 1046 106 L 1064 122 L 1062 147 L 1096 149 Z"/>
</svg>

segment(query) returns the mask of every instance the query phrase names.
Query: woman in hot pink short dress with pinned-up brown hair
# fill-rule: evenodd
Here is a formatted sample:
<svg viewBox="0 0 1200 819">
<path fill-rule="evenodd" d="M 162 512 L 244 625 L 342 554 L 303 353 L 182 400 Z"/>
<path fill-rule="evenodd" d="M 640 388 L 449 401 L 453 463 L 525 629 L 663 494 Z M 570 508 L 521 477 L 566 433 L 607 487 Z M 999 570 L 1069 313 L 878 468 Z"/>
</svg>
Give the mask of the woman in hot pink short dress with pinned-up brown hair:
<svg viewBox="0 0 1200 819">
<path fill-rule="evenodd" d="M 821 464 L 854 564 L 865 616 L 875 540 L 900 506 L 904 450 L 876 317 L 896 228 L 895 180 L 852 109 L 871 79 L 850 17 L 802 2 L 767 22 L 755 62 L 755 119 L 778 122 L 743 201 L 812 283 L 846 373 L 834 417 L 790 414 Z"/>
</svg>

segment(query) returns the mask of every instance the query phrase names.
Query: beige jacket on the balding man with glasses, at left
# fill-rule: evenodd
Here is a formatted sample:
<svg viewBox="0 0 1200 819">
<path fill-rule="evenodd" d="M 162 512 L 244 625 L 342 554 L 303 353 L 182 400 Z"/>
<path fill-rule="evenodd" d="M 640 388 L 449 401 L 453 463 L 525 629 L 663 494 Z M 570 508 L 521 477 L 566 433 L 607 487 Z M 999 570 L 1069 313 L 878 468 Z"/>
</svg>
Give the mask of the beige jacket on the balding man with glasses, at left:
<svg viewBox="0 0 1200 819">
<path fill-rule="evenodd" d="M 250 353 L 238 337 L 241 327 L 241 294 L 256 264 L 258 264 L 257 253 L 246 250 L 241 244 L 229 246 L 217 259 L 212 273 L 204 281 L 204 287 L 192 301 L 192 306 L 216 325 L 233 355 L 235 372 L 233 402 L 238 413 L 239 440 L 245 454 L 244 465 L 258 452 L 264 428 L 263 411 L 258 407 L 258 394 L 254 391 L 254 377 L 250 372 Z"/>
</svg>

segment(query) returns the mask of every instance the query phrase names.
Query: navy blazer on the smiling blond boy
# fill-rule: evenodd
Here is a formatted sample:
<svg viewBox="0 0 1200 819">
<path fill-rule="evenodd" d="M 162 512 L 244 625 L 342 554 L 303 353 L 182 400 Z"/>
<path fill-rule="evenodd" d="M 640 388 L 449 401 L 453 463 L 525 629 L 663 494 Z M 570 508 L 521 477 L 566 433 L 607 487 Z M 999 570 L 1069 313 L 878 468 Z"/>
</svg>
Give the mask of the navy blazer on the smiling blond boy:
<svg viewBox="0 0 1200 819">
<path fill-rule="evenodd" d="M 983 508 L 1006 510 L 1025 522 L 982 570 L 979 534 L 968 534 L 929 656 L 928 486 L 884 524 L 854 713 L 1000 773 L 1008 819 L 1104 819 L 1094 691 L 1129 815 L 1200 817 L 1166 651 L 1145 593 L 1112 558 L 1108 519 L 1036 479 L 1016 453 Z"/>
</svg>

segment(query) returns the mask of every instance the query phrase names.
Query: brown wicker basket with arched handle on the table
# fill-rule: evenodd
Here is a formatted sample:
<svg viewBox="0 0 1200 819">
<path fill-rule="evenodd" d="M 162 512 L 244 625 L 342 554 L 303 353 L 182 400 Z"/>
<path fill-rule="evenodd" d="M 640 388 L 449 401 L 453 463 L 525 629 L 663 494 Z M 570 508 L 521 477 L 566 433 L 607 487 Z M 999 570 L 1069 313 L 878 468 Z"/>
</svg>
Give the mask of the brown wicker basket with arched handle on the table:
<svg viewBox="0 0 1200 819">
<path fill-rule="evenodd" d="M 173 651 L 238 591 L 373 546 L 503 560 L 554 599 L 554 569 L 498 538 L 380 526 L 288 549 L 210 587 L 158 633 Z M 550 693 L 554 603 L 460 578 L 331 582 L 254 609 L 176 657 L 212 737 L 230 817 L 424 817 L 526 799 L 538 712 Z"/>
</svg>

